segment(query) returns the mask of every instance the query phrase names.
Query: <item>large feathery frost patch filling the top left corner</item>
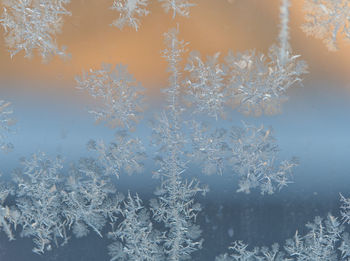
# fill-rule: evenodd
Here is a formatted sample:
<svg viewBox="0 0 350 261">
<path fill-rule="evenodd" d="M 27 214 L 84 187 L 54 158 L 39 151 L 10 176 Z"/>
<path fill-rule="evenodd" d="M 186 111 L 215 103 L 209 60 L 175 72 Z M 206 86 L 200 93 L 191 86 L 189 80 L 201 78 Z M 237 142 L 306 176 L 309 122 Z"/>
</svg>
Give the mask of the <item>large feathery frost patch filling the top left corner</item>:
<svg viewBox="0 0 350 261">
<path fill-rule="evenodd" d="M 6 0 L 0 23 L 6 33 L 11 57 L 25 51 L 31 57 L 38 49 L 44 61 L 53 55 L 66 56 L 59 49 L 55 35 L 61 31 L 63 15 L 70 15 L 64 5 L 70 0 Z"/>
</svg>

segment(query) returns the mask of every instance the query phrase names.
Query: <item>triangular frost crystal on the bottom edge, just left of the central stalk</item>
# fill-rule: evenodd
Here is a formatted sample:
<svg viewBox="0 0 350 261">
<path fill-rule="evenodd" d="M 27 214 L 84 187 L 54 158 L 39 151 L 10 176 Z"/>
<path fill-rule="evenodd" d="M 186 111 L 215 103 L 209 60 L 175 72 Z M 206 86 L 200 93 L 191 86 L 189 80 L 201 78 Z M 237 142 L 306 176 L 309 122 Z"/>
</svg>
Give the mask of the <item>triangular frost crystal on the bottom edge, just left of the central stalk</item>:
<svg viewBox="0 0 350 261">
<path fill-rule="evenodd" d="M 129 192 L 120 212 L 123 221 L 108 233 L 110 238 L 118 240 L 108 246 L 111 261 L 162 260 L 161 235 L 153 229 L 149 213 L 139 196 L 132 197 Z"/>
</svg>

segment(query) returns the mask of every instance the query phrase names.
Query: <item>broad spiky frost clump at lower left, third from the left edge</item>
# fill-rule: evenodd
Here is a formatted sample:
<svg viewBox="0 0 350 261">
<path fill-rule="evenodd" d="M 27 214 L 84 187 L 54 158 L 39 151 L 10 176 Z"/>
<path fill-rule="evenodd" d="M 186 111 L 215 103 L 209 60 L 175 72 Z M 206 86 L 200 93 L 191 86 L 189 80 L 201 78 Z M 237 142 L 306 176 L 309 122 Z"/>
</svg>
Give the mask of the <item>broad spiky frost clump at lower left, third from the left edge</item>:
<svg viewBox="0 0 350 261">
<path fill-rule="evenodd" d="M 102 171 L 93 159 L 81 159 L 72 168 L 68 189 L 62 192 L 62 214 L 78 238 L 86 236 L 89 228 L 102 237 L 106 222 L 116 220 L 122 196 L 116 194 Z"/>
</svg>

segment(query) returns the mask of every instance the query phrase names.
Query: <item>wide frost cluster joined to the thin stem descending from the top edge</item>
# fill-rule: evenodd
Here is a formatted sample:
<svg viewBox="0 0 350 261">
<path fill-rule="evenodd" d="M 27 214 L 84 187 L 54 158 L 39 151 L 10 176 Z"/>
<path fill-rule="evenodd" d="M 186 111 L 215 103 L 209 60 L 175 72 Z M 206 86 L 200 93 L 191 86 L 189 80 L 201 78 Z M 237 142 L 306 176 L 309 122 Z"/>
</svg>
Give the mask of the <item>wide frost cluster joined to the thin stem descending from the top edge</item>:
<svg viewBox="0 0 350 261">
<path fill-rule="evenodd" d="M 276 114 L 288 97 L 287 90 L 301 83 L 307 65 L 289 46 L 289 1 L 281 5 L 281 30 L 278 44 L 268 55 L 254 50 L 234 54 L 229 52 L 225 64 L 218 61 L 219 53 L 202 61 L 199 53 L 190 55 L 185 70 L 190 102 L 195 112 L 215 117 L 225 115 L 224 107 L 231 104 L 246 115 Z"/>
</svg>

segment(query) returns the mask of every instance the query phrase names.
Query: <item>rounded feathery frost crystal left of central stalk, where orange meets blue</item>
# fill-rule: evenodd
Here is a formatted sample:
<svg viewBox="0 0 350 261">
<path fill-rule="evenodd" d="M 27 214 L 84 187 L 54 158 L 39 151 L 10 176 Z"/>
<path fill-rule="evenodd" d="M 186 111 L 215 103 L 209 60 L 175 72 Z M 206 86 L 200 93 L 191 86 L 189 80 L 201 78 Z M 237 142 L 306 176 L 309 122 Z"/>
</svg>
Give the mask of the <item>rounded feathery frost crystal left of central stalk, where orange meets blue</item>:
<svg viewBox="0 0 350 261">
<path fill-rule="evenodd" d="M 130 128 L 139 118 L 141 110 L 141 86 L 128 73 L 127 67 L 118 64 L 112 68 L 102 64 L 102 69 L 76 77 L 77 88 L 87 90 L 89 94 L 101 100 L 102 104 L 89 111 L 97 122 L 106 121 L 109 126 Z"/>
</svg>

